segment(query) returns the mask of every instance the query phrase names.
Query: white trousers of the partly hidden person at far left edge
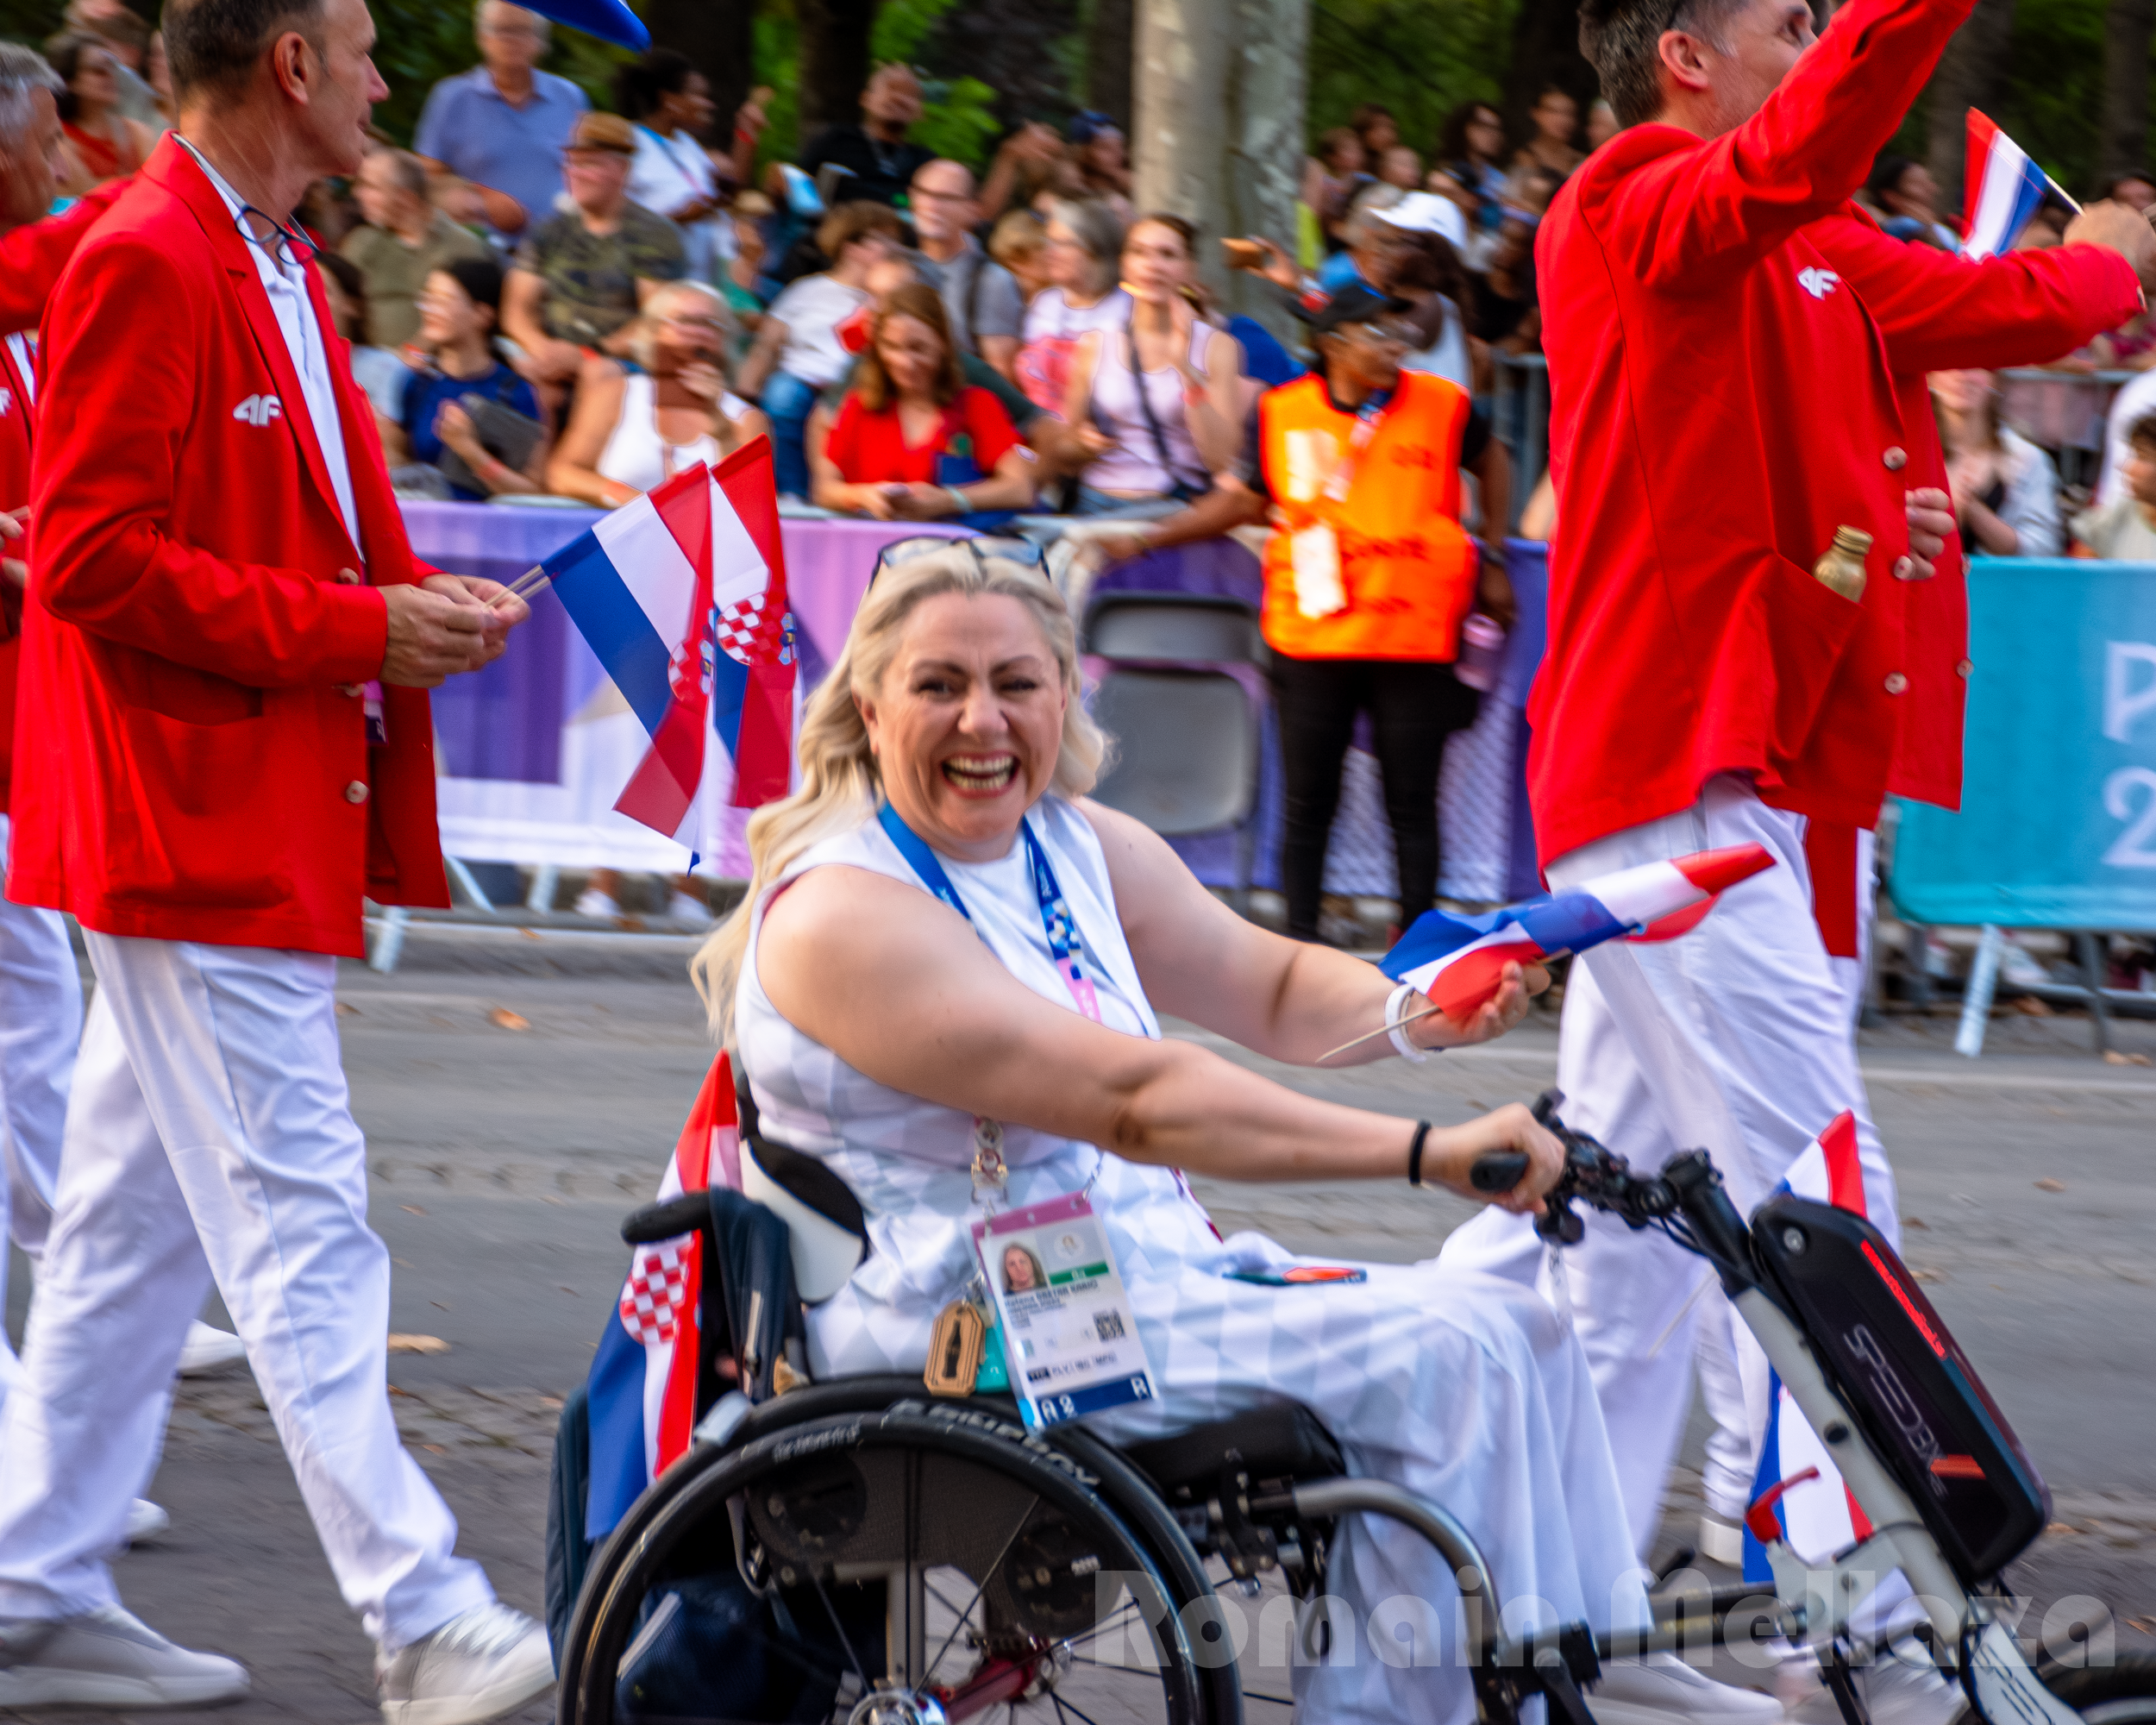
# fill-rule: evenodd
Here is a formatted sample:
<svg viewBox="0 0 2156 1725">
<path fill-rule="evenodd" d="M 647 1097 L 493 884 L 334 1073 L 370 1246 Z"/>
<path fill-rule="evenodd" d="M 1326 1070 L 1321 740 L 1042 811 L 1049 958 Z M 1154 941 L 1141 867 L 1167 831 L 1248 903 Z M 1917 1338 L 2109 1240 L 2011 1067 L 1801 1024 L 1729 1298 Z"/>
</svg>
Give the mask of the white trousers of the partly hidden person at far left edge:
<svg viewBox="0 0 2156 1725">
<path fill-rule="evenodd" d="M 9 822 L 0 815 L 0 854 Z M 0 899 L 0 1309 L 6 1307 L 6 1242 L 32 1264 L 45 1251 L 60 1179 L 67 1087 L 82 1037 L 82 977 L 67 919 Z M 19 1367 L 0 1330 L 0 1406 Z"/>
</svg>

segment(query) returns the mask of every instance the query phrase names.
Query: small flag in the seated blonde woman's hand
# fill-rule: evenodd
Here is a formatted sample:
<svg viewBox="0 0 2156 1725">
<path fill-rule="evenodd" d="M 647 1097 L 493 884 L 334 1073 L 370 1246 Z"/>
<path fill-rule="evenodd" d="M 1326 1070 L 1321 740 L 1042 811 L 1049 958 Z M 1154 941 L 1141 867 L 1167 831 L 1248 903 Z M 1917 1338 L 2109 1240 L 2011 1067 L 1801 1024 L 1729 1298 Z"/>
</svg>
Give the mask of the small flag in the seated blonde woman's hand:
<svg viewBox="0 0 2156 1725">
<path fill-rule="evenodd" d="M 1507 964 L 1585 953 L 1604 940 L 1673 940 L 1697 927 L 1716 897 L 1772 867 L 1766 845 L 1729 845 L 1595 875 L 1570 893 L 1481 916 L 1425 910 L 1378 968 L 1460 1024 L 1496 994 Z"/>
</svg>

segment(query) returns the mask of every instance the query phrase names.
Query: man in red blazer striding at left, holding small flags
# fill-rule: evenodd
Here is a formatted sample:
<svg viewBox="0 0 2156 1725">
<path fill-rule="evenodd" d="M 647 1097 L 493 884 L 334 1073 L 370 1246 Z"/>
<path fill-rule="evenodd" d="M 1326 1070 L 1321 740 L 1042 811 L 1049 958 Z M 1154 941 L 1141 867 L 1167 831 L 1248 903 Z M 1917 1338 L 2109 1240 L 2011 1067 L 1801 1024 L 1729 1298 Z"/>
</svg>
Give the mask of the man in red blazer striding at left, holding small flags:
<svg viewBox="0 0 2156 1725">
<path fill-rule="evenodd" d="M 392 1725 L 552 1684 L 457 1559 L 386 1384 L 388 1253 L 336 1046 L 360 901 L 446 903 L 425 690 L 522 606 L 416 565 L 291 211 L 358 170 L 364 0 L 168 0 L 179 132 L 45 313 L 9 895 L 97 998 L 24 1384 L 0 1414 L 0 1708 L 246 1688 L 121 1611 L 106 1552 L 216 1281 Z M 50 765 L 47 765 L 50 763 Z"/>
</svg>

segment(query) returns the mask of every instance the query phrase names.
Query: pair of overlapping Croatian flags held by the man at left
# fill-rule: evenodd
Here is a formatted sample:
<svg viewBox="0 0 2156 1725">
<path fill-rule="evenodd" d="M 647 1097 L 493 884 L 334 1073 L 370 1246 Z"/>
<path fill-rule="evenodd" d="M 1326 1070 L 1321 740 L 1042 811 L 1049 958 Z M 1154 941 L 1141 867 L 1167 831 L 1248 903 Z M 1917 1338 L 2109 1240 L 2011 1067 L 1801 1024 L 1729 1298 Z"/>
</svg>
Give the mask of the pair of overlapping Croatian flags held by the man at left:
<svg viewBox="0 0 2156 1725">
<path fill-rule="evenodd" d="M 699 461 L 545 561 L 651 750 L 614 802 L 692 852 L 791 783 L 793 619 L 770 440 Z"/>
</svg>

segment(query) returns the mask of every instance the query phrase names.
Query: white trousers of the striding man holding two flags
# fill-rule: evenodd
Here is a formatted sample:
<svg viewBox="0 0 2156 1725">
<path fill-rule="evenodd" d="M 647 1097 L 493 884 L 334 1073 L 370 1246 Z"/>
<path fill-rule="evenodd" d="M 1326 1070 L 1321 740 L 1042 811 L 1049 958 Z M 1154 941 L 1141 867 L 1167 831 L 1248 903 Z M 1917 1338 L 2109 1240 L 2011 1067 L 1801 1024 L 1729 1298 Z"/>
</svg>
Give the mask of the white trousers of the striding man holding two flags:
<svg viewBox="0 0 2156 1725">
<path fill-rule="evenodd" d="M 91 934 L 24 1380 L 0 1412 L 0 1617 L 116 1602 L 211 1279 L 345 1602 L 386 1647 L 494 1593 L 388 1404 L 390 1259 L 336 1046 L 336 960 Z"/>
</svg>

